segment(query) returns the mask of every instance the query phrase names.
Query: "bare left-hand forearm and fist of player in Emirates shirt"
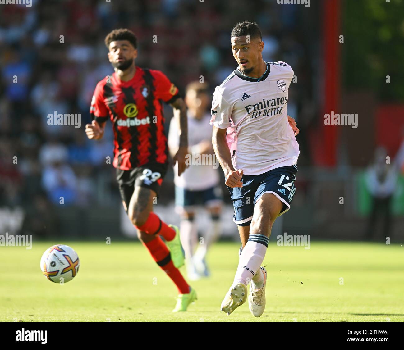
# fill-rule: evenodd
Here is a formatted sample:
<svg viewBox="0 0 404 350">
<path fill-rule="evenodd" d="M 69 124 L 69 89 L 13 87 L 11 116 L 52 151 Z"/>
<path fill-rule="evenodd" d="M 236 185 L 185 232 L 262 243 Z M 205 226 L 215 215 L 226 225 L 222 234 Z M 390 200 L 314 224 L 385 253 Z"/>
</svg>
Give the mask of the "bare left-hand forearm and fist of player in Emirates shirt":
<svg viewBox="0 0 404 350">
<path fill-rule="evenodd" d="M 231 163 L 231 155 L 229 147 L 226 142 L 226 130 L 213 126 L 212 144 L 216 157 L 225 173 L 225 184 L 229 187 L 243 187 L 241 177 L 243 171 L 241 169 L 235 170 Z"/>
</svg>

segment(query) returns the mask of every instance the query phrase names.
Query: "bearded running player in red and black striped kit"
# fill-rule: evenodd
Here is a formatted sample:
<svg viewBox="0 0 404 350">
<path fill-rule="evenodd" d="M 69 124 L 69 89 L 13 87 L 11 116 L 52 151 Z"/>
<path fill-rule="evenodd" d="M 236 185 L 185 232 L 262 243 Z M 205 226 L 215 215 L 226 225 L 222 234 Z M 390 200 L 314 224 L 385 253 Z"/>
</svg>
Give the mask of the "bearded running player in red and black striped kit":
<svg viewBox="0 0 404 350">
<path fill-rule="evenodd" d="M 179 120 L 180 147 L 174 157 L 178 175 L 185 170 L 188 149 L 185 103 L 164 73 L 135 65 L 137 39 L 132 31 L 113 30 L 106 36 L 105 45 L 115 73 L 95 88 L 90 107 L 93 121 L 86 125 L 86 134 L 90 139 L 102 138 L 107 119 L 111 120 L 115 136 L 113 164 L 122 203 L 139 239 L 178 288 L 173 311 L 186 311 L 196 300 L 196 292 L 178 270 L 184 264 L 179 230 L 153 212 L 168 168 L 162 101 L 173 107 L 174 117 Z"/>
</svg>

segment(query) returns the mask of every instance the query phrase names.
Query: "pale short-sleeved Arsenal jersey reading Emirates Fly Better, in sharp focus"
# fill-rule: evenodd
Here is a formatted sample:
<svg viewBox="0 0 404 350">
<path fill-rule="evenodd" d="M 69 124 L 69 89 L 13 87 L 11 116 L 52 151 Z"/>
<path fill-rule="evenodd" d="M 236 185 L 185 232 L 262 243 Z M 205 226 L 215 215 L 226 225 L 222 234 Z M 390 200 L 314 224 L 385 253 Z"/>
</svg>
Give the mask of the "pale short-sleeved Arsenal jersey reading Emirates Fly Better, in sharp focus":
<svg viewBox="0 0 404 350">
<path fill-rule="evenodd" d="M 293 69 L 284 62 L 266 64 L 261 78 L 237 68 L 213 94 L 210 124 L 227 128 L 233 166 L 246 175 L 293 165 L 299 157 L 287 111 Z"/>
</svg>

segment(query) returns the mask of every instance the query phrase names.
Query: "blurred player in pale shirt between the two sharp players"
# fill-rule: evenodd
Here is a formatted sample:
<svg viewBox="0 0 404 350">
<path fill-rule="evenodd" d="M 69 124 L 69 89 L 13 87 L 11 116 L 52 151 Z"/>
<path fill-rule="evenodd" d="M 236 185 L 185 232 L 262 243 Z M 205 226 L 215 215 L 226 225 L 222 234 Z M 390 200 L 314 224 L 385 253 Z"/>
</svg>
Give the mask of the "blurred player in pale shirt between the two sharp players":
<svg viewBox="0 0 404 350">
<path fill-rule="evenodd" d="M 221 231 L 221 189 L 218 163 L 212 147 L 212 127 L 209 125 L 210 106 L 206 83 L 192 82 L 185 92 L 188 107 L 189 168 L 178 176 L 175 166 L 175 204 L 181 215 L 181 242 L 185 250 L 185 264 L 188 278 L 200 279 L 209 275 L 206 266 L 208 247 L 217 239 Z M 178 150 L 179 125 L 171 119 L 168 132 L 168 146 L 172 155 Z M 202 204 L 210 213 L 210 225 L 204 225 L 203 240 L 198 241 L 198 228 L 195 221 L 196 205 Z M 198 242 L 200 244 L 198 244 Z M 198 249 L 196 247 L 198 246 Z M 195 251 L 196 249 L 196 251 Z"/>
</svg>

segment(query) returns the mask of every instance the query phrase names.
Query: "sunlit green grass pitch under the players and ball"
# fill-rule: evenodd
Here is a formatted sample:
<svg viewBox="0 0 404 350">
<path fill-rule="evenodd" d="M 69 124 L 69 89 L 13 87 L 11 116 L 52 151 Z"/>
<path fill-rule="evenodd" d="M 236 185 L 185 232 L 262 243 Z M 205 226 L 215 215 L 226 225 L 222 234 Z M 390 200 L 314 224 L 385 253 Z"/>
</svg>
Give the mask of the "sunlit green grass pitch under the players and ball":
<svg viewBox="0 0 404 350">
<path fill-rule="evenodd" d="M 77 277 L 65 285 L 48 281 L 39 267 L 55 243 L 72 246 L 80 257 Z M 0 247 L 0 321 L 404 321 L 404 247 L 352 242 L 311 242 L 307 250 L 270 242 L 263 316 L 253 317 L 247 303 L 227 316 L 220 304 L 239 247 L 212 247 L 212 277 L 191 283 L 198 300 L 179 314 L 171 312 L 177 289 L 139 243 Z"/>
</svg>

